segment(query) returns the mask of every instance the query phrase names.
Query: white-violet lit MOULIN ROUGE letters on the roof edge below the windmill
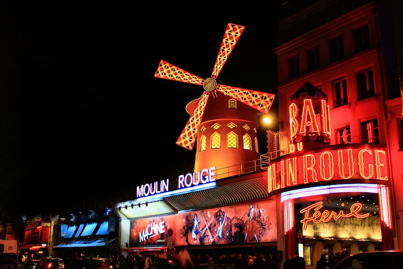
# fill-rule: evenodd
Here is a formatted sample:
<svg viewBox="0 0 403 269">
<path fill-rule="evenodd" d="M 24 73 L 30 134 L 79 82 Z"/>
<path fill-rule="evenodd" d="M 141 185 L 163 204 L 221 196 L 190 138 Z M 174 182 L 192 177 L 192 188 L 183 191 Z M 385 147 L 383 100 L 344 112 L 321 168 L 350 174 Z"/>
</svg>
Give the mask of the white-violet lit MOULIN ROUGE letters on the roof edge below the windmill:
<svg viewBox="0 0 403 269">
<path fill-rule="evenodd" d="M 216 178 L 214 177 L 216 175 L 215 170 L 216 167 L 210 167 L 209 169 L 202 169 L 197 173 L 193 172 L 187 173 L 186 175 L 179 175 L 178 189 L 188 191 L 188 188 L 216 181 Z M 140 198 L 161 194 L 168 192 L 169 190 L 169 178 L 165 180 L 162 179 L 153 183 L 147 183 L 141 186 L 137 186 L 137 197 Z M 176 192 L 175 194 L 178 194 L 178 192 Z"/>
</svg>

